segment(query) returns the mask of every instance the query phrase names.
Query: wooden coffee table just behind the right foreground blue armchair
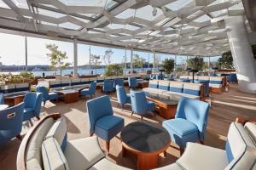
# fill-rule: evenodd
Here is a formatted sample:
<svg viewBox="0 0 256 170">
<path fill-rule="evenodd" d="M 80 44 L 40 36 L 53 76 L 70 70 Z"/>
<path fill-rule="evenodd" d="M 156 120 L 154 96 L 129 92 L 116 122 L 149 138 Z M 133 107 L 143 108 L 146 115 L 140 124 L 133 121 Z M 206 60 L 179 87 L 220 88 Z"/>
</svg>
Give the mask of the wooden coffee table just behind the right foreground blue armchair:
<svg viewBox="0 0 256 170">
<path fill-rule="evenodd" d="M 147 99 L 155 104 L 155 111 L 164 119 L 172 119 L 177 110 L 179 95 L 176 94 L 150 94 L 146 93 Z"/>
</svg>

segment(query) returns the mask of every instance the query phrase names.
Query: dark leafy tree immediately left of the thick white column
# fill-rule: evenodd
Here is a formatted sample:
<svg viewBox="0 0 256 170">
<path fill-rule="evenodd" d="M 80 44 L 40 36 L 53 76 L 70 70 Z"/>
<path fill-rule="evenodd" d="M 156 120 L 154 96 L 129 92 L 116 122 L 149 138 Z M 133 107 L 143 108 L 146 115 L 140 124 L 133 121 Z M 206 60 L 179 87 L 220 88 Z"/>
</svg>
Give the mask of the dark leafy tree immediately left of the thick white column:
<svg viewBox="0 0 256 170">
<path fill-rule="evenodd" d="M 218 59 L 218 67 L 221 69 L 233 69 L 233 57 L 231 51 L 227 51 Z"/>
</svg>

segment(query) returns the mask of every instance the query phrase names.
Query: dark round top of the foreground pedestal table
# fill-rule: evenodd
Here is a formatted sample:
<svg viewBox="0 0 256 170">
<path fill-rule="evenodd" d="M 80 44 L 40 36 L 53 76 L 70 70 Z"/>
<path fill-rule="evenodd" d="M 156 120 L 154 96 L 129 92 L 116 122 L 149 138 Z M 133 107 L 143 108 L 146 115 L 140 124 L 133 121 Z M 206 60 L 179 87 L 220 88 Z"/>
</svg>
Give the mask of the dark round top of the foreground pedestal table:
<svg viewBox="0 0 256 170">
<path fill-rule="evenodd" d="M 154 152 L 164 149 L 171 143 L 166 129 L 154 122 L 132 122 L 121 133 L 123 143 L 141 152 Z"/>
</svg>

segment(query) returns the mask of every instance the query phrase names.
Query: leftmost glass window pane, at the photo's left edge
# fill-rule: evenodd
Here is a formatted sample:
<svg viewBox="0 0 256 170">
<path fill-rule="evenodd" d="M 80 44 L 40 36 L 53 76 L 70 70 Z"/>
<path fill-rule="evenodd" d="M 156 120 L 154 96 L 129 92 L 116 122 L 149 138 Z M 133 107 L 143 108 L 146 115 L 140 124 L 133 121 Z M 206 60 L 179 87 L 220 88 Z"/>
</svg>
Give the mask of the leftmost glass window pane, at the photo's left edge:
<svg viewBox="0 0 256 170">
<path fill-rule="evenodd" d="M 0 44 L 0 71 L 14 74 L 25 71 L 25 37 L 0 33 Z"/>
</svg>

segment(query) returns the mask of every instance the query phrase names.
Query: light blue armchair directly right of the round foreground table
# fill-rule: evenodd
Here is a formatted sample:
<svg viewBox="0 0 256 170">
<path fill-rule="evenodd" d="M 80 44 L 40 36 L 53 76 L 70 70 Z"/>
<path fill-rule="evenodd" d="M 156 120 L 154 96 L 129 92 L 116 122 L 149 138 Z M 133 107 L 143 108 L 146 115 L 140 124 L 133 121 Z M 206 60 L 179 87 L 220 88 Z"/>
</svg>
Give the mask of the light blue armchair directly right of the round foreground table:
<svg viewBox="0 0 256 170">
<path fill-rule="evenodd" d="M 203 144 L 207 128 L 209 104 L 197 99 L 179 99 L 175 119 L 163 122 L 171 139 L 183 152 L 187 142 L 200 141 Z"/>
</svg>

